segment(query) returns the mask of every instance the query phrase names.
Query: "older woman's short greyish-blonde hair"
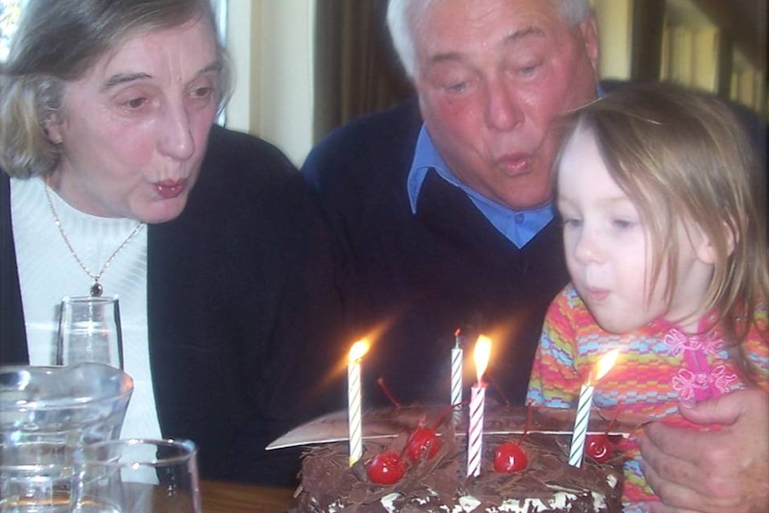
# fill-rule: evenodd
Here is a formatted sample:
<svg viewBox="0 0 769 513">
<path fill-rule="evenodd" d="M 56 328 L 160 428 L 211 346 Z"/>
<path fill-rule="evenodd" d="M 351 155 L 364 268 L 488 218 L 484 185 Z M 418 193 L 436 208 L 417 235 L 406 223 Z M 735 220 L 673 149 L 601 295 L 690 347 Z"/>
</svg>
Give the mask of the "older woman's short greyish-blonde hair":
<svg viewBox="0 0 769 513">
<path fill-rule="evenodd" d="M 45 125 L 62 119 L 65 82 L 82 77 L 129 37 L 196 18 L 217 39 L 221 109 L 230 70 L 209 0 L 29 0 L 0 68 L 0 167 L 20 178 L 51 173 L 61 150 Z"/>
</svg>

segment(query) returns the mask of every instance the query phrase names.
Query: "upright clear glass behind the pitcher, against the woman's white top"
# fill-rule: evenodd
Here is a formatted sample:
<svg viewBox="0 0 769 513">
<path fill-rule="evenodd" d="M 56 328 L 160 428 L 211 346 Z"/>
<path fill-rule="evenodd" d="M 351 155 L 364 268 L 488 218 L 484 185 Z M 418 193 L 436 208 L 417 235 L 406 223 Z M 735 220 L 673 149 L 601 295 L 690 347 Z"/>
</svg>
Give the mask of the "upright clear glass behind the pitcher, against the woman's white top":
<svg viewBox="0 0 769 513">
<path fill-rule="evenodd" d="M 56 365 L 84 361 L 123 369 L 120 302 L 116 296 L 62 298 Z"/>
</svg>

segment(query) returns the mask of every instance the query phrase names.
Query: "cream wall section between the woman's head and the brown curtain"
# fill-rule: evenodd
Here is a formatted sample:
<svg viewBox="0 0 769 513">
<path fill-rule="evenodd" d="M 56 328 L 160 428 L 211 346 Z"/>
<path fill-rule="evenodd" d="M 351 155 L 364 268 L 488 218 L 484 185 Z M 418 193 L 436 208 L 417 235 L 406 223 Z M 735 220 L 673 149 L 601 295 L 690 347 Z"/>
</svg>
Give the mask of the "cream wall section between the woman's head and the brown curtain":
<svg viewBox="0 0 769 513">
<path fill-rule="evenodd" d="M 279 146 L 301 165 L 312 137 L 315 0 L 228 0 L 236 87 L 227 127 Z"/>
</svg>

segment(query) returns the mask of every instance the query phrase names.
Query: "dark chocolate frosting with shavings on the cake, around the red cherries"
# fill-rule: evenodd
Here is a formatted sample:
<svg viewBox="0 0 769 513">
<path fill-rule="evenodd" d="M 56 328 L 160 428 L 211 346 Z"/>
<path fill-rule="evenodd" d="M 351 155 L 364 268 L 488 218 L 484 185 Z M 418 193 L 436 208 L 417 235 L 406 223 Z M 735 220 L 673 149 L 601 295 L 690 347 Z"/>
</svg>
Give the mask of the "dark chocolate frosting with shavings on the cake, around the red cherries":
<svg viewBox="0 0 769 513">
<path fill-rule="evenodd" d="M 416 427 L 416 426 L 415 426 Z M 441 446 L 434 458 L 411 463 L 406 475 L 392 485 L 372 483 L 366 466 L 382 451 L 403 451 L 408 433 L 396 438 L 367 440 L 363 457 L 348 467 L 348 444 L 329 443 L 310 448 L 302 458 L 302 485 L 298 496 L 303 513 L 378 513 L 379 502 L 393 492 L 400 494 L 395 507 L 401 512 L 451 511 L 459 497 L 472 495 L 481 501 L 475 511 L 499 507 L 510 499 L 550 499 L 556 492 L 575 494 L 570 511 L 594 511 L 591 492 L 605 496 L 606 511 L 621 511 L 623 457 L 616 453 L 598 464 L 585 458 L 583 467 L 571 467 L 568 435 L 529 433 L 485 435 L 481 475 L 467 477 L 467 438 L 455 436 L 453 426 L 440 428 Z M 494 470 L 494 452 L 500 443 L 519 443 L 528 458 L 525 470 L 499 473 Z M 405 454 L 403 455 L 406 458 Z M 609 485 L 614 476 L 614 486 Z M 332 508 L 332 505 L 335 505 Z"/>
</svg>

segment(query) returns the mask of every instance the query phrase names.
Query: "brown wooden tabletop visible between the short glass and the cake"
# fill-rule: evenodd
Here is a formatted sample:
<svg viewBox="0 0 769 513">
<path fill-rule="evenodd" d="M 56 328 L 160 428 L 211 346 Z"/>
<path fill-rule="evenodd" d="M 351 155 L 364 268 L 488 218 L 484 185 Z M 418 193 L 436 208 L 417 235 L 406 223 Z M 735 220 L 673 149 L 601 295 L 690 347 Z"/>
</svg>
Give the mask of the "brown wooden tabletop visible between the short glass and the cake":
<svg viewBox="0 0 769 513">
<path fill-rule="evenodd" d="M 294 490 L 203 481 L 203 513 L 283 513 L 296 506 Z"/>
</svg>

